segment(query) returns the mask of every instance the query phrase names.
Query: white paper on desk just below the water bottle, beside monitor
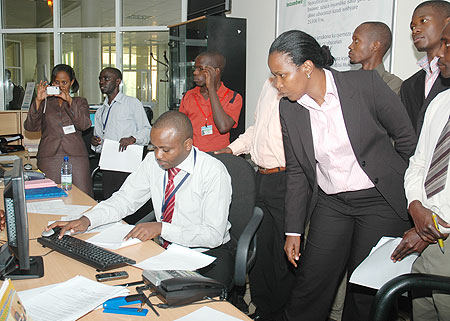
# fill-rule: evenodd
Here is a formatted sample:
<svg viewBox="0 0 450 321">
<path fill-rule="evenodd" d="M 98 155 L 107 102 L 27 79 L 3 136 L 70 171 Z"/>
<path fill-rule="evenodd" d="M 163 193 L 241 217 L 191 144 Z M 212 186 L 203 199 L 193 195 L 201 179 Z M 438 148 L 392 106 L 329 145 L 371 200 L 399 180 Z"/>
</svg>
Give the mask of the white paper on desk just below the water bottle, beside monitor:
<svg viewBox="0 0 450 321">
<path fill-rule="evenodd" d="M 62 199 L 27 202 L 27 212 L 35 214 L 52 214 L 69 217 L 79 217 L 89 210 L 90 205 L 66 205 Z"/>
</svg>

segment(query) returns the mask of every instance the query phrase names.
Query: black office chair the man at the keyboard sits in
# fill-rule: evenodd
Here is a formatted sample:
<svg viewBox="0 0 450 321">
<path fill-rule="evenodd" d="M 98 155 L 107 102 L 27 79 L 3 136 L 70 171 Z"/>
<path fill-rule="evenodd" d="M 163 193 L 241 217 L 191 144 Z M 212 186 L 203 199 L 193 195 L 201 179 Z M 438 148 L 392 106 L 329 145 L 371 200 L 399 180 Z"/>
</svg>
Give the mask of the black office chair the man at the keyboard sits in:
<svg viewBox="0 0 450 321">
<path fill-rule="evenodd" d="M 210 153 L 219 159 L 231 176 L 233 194 L 230 214 L 231 240 L 236 245 L 234 276 L 228 293 L 234 287 L 244 287 L 247 272 L 255 263 L 256 231 L 261 224 L 263 211 L 255 207 L 256 182 L 253 167 L 243 158 L 231 154 Z M 231 303 L 237 300 L 237 291 L 231 291 Z"/>
</svg>

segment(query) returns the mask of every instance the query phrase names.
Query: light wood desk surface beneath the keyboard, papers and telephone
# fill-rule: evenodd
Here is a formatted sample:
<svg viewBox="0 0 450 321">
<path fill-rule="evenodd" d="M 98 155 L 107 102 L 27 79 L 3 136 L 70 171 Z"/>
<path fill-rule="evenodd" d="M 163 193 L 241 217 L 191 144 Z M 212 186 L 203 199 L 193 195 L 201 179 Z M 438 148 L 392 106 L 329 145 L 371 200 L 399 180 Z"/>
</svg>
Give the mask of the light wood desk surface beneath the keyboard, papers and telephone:
<svg viewBox="0 0 450 321">
<path fill-rule="evenodd" d="M 87 194 L 81 192 L 77 187 L 73 187 L 73 189 L 68 193 L 69 196 L 64 199 L 66 204 L 79 204 L 79 205 L 95 205 L 96 202 L 90 198 Z M 55 215 L 42 215 L 42 214 L 28 214 L 29 218 L 29 229 L 30 229 L 30 255 L 44 255 L 48 253 L 50 250 L 48 248 L 44 248 L 39 244 L 35 238 L 39 237 L 47 225 L 47 222 L 50 220 L 59 219 L 59 216 Z M 82 234 L 79 237 L 82 239 L 87 239 L 91 237 L 92 234 Z M 34 239 L 34 240 L 32 240 Z M 140 244 L 132 245 L 129 247 L 125 247 L 119 249 L 115 252 L 130 257 L 137 262 L 140 262 L 149 256 L 156 255 L 164 251 L 159 245 L 152 241 L 142 242 Z M 59 283 L 66 281 L 76 275 L 82 275 L 89 279 L 95 280 L 95 274 L 98 272 L 83 263 L 80 263 L 76 260 L 73 260 L 65 255 L 62 255 L 58 252 L 52 252 L 43 257 L 44 259 L 44 277 L 40 279 L 32 279 L 32 280 L 15 280 L 13 284 L 17 291 L 27 290 L 43 285 L 49 285 L 53 283 Z M 120 268 L 117 270 L 125 270 L 129 274 L 128 279 L 116 280 L 105 282 L 105 284 L 114 285 L 114 284 L 122 284 L 125 282 L 133 282 L 142 280 L 142 270 L 128 266 L 124 268 Z M 113 270 L 114 271 L 114 270 Z M 135 293 L 135 287 L 130 288 L 132 293 Z M 146 291 L 148 294 L 148 291 Z M 160 303 L 161 301 L 153 297 L 150 299 L 152 303 Z M 222 311 L 234 317 L 237 317 L 241 320 L 250 320 L 246 315 L 244 315 L 241 311 L 235 308 L 228 302 L 213 302 L 205 304 L 213 309 Z M 129 315 L 119 315 L 119 314 L 109 314 L 103 313 L 103 309 L 95 310 L 87 315 L 85 315 L 80 320 L 175 320 L 180 318 L 190 312 L 193 312 L 203 304 L 194 304 L 190 306 L 175 308 L 175 309 L 160 309 L 156 308 L 160 313 L 160 317 L 157 317 L 155 313 L 145 306 L 146 309 L 149 309 L 149 312 L 146 317 L 138 317 L 138 316 L 129 316 Z"/>
</svg>

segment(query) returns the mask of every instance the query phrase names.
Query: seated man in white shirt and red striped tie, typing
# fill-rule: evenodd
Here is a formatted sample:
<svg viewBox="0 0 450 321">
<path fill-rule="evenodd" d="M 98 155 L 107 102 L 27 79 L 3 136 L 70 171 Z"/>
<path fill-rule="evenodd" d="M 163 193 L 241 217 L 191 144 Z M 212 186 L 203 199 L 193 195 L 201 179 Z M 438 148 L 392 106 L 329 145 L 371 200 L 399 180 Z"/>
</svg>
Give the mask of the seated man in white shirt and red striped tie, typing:
<svg viewBox="0 0 450 321">
<path fill-rule="evenodd" d="M 154 152 L 119 191 L 80 219 L 50 228 L 62 226 L 61 236 L 67 230 L 84 232 L 120 221 L 151 198 L 157 222 L 136 225 L 126 239 L 160 237 L 163 246 L 176 243 L 215 256 L 216 261 L 199 272 L 228 286 L 234 267 L 228 222 L 231 178 L 222 162 L 192 146 L 192 136 L 186 115 L 162 114 L 151 131 Z"/>
</svg>

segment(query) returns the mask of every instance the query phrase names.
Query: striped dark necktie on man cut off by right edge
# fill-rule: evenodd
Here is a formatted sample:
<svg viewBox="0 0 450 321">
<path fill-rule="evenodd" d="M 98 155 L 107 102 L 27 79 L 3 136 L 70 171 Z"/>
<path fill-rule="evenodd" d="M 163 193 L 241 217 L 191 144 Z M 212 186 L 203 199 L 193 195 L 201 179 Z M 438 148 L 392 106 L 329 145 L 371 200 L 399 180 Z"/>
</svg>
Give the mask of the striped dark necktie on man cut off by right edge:
<svg viewBox="0 0 450 321">
<path fill-rule="evenodd" d="M 450 119 L 447 121 L 431 159 L 430 170 L 425 179 L 425 193 L 427 198 L 436 195 L 445 188 L 447 180 L 448 162 L 450 158 Z"/>
</svg>

